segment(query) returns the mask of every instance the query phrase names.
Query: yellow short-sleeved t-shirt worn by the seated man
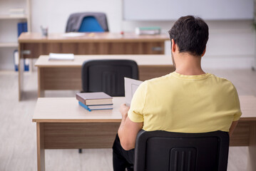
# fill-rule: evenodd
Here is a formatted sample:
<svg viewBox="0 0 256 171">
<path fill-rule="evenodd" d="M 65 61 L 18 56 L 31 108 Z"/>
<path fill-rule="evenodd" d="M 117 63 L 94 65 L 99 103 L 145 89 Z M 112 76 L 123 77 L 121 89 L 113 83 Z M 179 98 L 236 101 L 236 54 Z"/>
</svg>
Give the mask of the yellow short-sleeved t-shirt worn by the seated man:
<svg viewBox="0 0 256 171">
<path fill-rule="evenodd" d="M 176 72 L 141 83 L 128 111 L 130 120 L 143 122 L 143 130 L 178 133 L 228 132 L 241 114 L 237 90 L 230 81 L 210 73 L 184 76 Z"/>
</svg>

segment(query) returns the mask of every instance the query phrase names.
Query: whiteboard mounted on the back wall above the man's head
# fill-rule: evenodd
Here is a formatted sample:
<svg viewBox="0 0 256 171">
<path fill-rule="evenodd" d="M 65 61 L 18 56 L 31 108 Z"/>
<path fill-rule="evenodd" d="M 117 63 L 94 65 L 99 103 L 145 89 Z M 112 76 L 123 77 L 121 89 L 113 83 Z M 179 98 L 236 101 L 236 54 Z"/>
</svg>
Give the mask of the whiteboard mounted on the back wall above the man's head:
<svg viewBox="0 0 256 171">
<path fill-rule="evenodd" d="M 177 20 L 180 16 L 205 20 L 254 18 L 253 0 L 123 0 L 123 19 L 135 21 Z"/>
</svg>

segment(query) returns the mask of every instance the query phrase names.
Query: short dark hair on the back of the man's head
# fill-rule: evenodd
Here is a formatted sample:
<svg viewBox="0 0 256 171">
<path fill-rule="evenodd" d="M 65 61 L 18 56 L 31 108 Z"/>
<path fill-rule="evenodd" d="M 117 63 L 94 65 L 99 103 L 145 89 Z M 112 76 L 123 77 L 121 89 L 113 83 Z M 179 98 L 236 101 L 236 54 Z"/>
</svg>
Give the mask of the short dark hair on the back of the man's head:
<svg viewBox="0 0 256 171">
<path fill-rule="evenodd" d="M 200 17 L 182 16 L 170 28 L 170 40 L 177 43 L 180 52 L 202 56 L 209 38 L 208 25 Z"/>
</svg>

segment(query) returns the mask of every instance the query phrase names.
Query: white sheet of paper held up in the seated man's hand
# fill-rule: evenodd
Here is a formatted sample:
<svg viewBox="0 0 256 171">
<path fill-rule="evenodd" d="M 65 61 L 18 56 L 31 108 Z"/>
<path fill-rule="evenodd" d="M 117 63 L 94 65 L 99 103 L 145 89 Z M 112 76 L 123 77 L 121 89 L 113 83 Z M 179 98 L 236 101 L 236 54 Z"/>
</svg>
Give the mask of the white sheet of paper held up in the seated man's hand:
<svg viewBox="0 0 256 171">
<path fill-rule="evenodd" d="M 125 93 L 126 93 L 126 105 L 130 106 L 133 94 L 137 90 L 138 86 L 143 83 L 143 81 L 134 80 L 125 77 Z"/>
</svg>

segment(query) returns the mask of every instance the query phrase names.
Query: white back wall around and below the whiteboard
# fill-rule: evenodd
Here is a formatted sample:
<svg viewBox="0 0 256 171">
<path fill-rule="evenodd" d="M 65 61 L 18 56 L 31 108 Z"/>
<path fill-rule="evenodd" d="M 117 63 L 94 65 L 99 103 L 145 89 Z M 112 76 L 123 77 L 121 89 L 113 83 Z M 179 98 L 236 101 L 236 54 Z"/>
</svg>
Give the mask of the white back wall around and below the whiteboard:
<svg viewBox="0 0 256 171">
<path fill-rule="evenodd" d="M 160 26 L 162 32 L 167 33 L 173 26 L 173 21 L 123 21 L 122 8 L 121 0 L 31 0 L 32 31 L 39 32 L 42 25 L 48 26 L 49 33 L 64 32 L 69 14 L 81 11 L 105 12 L 111 32 L 134 31 L 136 26 Z M 203 58 L 203 66 L 251 68 L 255 56 L 252 21 L 206 22 L 210 28 L 210 38 Z M 170 43 L 166 42 L 165 47 L 165 53 L 170 54 Z M 0 69 L 3 68 L 3 62 L 6 62 L 1 58 L 2 56 L 0 56 Z"/>
</svg>

